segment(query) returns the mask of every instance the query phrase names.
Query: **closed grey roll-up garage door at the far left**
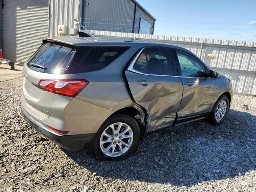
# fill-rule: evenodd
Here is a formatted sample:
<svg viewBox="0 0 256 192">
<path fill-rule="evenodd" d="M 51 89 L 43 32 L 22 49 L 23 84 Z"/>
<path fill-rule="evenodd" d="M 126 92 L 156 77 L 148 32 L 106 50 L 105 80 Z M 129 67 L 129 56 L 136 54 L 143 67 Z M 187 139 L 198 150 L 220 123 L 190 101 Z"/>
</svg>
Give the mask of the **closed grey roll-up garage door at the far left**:
<svg viewBox="0 0 256 192">
<path fill-rule="evenodd" d="M 3 56 L 24 64 L 48 36 L 48 0 L 3 0 Z"/>
</svg>

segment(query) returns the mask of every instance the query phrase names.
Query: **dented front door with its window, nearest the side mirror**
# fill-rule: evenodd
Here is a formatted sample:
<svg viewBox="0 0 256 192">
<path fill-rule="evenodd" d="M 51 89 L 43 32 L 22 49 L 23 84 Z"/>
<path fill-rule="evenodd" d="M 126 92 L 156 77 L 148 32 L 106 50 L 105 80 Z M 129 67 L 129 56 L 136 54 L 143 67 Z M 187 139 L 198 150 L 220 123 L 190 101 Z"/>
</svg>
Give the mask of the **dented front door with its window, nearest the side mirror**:
<svg viewBox="0 0 256 192">
<path fill-rule="evenodd" d="M 214 98 L 214 79 L 198 58 L 184 50 L 174 49 L 178 72 L 183 84 L 183 97 L 178 110 L 178 121 L 210 111 Z"/>
</svg>

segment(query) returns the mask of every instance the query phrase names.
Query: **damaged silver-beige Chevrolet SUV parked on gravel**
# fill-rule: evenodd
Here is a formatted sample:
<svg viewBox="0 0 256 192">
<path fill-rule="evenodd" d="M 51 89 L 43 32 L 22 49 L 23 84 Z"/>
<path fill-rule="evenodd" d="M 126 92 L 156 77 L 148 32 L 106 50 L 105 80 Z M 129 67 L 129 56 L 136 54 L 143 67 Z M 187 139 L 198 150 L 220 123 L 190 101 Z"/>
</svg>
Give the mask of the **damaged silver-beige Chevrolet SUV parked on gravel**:
<svg viewBox="0 0 256 192">
<path fill-rule="evenodd" d="M 42 135 L 98 159 L 131 156 L 148 132 L 220 124 L 231 82 L 177 46 L 102 37 L 46 38 L 23 69 L 21 109 Z"/>
</svg>

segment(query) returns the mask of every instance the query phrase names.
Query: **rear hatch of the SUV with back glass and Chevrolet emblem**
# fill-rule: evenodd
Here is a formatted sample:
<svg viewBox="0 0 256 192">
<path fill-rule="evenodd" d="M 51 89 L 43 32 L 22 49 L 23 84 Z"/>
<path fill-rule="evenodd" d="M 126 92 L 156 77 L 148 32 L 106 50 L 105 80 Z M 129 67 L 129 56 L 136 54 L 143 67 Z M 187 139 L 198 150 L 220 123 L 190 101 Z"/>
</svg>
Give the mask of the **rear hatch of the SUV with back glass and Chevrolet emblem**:
<svg viewBox="0 0 256 192">
<path fill-rule="evenodd" d="M 38 86 L 41 79 L 65 79 L 76 50 L 58 42 L 44 42 L 24 66 L 23 94 L 26 102 L 44 116 L 50 116 L 54 94 Z"/>
</svg>

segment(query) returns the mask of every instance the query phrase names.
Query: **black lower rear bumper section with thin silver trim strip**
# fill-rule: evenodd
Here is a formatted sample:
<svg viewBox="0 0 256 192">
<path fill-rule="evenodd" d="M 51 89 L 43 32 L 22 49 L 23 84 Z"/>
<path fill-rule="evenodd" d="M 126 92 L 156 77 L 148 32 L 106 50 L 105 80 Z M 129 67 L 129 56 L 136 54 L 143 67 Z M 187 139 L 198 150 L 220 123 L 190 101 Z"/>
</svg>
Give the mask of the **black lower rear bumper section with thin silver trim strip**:
<svg viewBox="0 0 256 192">
<path fill-rule="evenodd" d="M 79 134 L 79 135 L 60 135 L 49 132 L 43 124 L 32 118 L 26 112 L 23 105 L 21 104 L 22 116 L 26 121 L 40 134 L 48 138 L 50 141 L 68 150 L 81 150 L 83 148 L 90 149 L 92 139 L 95 134 Z"/>
</svg>

